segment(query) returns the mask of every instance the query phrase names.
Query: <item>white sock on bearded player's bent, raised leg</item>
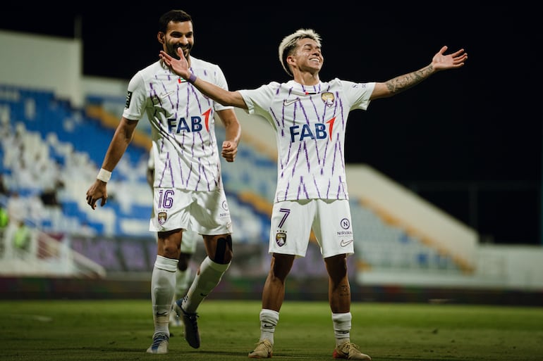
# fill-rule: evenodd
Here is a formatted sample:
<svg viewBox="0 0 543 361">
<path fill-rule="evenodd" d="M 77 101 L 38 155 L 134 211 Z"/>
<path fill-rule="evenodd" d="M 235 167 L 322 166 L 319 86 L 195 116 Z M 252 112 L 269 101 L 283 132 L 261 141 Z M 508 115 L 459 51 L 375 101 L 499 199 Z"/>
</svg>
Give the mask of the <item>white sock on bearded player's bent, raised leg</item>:
<svg viewBox="0 0 543 361">
<path fill-rule="evenodd" d="M 196 312 L 202 300 L 219 284 L 228 267 L 230 267 L 230 262 L 221 265 L 213 262 L 209 257 L 204 258 L 196 272 L 193 284 L 188 289 L 187 296 L 183 298 L 183 310 L 188 313 Z"/>
</svg>

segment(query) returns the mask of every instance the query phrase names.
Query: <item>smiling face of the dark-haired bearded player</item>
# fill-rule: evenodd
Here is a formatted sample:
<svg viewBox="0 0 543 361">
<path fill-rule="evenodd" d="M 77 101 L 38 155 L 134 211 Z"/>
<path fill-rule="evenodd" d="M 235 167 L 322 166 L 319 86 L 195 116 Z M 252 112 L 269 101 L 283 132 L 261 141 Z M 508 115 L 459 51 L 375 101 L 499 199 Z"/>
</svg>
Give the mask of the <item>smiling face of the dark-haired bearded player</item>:
<svg viewBox="0 0 543 361">
<path fill-rule="evenodd" d="M 166 32 L 158 33 L 159 42 L 166 53 L 172 58 L 178 59 L 177 49 L 183 49 L 183 55 L 188 60 L 190 50 L 194 46 L 194 31 L 192 21 L 170 21 Z"/>
</svg>

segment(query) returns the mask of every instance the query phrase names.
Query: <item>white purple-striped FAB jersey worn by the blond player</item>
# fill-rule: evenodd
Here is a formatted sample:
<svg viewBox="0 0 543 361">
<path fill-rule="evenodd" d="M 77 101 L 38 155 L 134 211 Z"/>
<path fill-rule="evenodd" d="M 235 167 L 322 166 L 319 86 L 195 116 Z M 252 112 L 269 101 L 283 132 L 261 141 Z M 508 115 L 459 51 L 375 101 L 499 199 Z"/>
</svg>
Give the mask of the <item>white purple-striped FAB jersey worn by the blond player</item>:
<svg viewBox="0 0 543 361">
<path fill-rule="evenodd" d="M 334 79 L 305 87 L 294 80 L 240 90 L 248 113 L 276 130 L 275 202 L 348 199 L 345 131 L 350 110 L 366 110 L 375 83 Z"/>
</svg>

